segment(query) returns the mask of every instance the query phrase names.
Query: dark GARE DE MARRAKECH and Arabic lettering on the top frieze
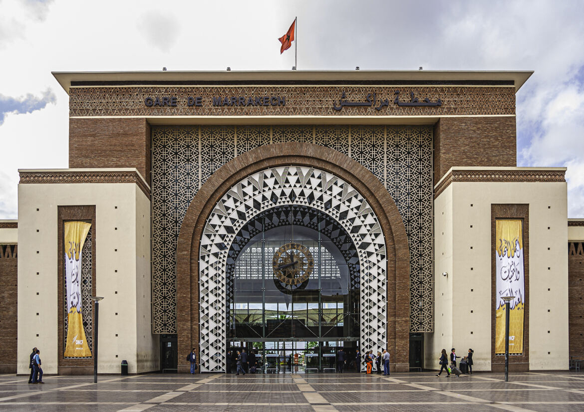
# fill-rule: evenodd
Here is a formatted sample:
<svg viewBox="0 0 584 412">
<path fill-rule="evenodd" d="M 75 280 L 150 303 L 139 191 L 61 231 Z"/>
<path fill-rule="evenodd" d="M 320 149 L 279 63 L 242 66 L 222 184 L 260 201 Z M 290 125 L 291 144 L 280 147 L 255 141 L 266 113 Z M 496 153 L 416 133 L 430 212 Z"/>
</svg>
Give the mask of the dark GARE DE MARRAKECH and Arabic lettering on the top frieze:
<svg viewBox="0 0 584 412">
<path fill-rule="evenodd" d="M 342 93 L 340 99 L 333 100 L 333 109 L 339 111 L 343 107 L 373 107 L 375 110 L 380 111 L 384 107 L 390 106 L 390 104 L 395 104 L 400 107 L 439 107 L 442 106 L 442 100 L 437 99 L 436 102 L 430 102 L 427 97 L 420 100 L 410 92 L 409 102 L 405 100 L 399 100 L 399 90 L 395 90 L 395 97 L 392 99 L 385 98 L 383 95 L 377 95 L 377 93 L 369 93 L 362 101 L 350 101 L 347 100 L 347 95 L 345 92 Z M 203 107 L 203 97 L 201 96 L 189 96 L 183 100 L 187 107 Z M 286 106 L 286 97 L 283 96 L 214 96 L 210 100 L 211 106 L 222 107 L 222 106 L 237 106 L 237 107 L 248 107 L 248 106 Z M 144 104 L 146 107 L 177 107 L 179 106 L 179 100 L 176 96 L 162 96 L 162 97 L 146 97 L 144 99 Z"/>
</svg>

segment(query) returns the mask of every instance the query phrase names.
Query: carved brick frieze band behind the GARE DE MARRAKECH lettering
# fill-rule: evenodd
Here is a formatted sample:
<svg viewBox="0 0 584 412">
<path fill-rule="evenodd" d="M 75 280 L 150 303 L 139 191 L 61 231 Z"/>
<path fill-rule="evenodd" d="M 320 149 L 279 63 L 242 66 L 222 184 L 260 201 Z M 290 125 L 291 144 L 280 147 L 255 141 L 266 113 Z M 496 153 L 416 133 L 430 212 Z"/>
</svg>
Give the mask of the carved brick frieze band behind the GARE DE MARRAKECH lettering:
<svg viewBox="0 0 584 412">
<path fill-rule="evenodd" d="M 395 92 L 404 102 L 440 100 L 440 106 L 398 106 Z M 343 96 L 345 93 L 345 97 Z M 413 93 L 413 96 L 411 95 Z M 371 104 L 368 101 L 368 95 Z M 256 104 L 260 97 L 284 99 Z M 176 106 L 150 106 L 150 97 L 162 101 L 176 97 Z M 189 97 L 200 97 L 200 105 Z M 234 101 L 213 105 L 213 98 Z M 239 97 L 242 99 L 239 100 Z M 346 104 L 342 110 L 333 106 Z M 382 104 L 387 99 L 388 104 Z M 236 101 L 237 100 L 237 101 Z M 199 100 L 197 100 L 199 101 Z M 223 102 L 224 100 L 221 100 Z M 259 100 L 258 100 L 259 101 Z M 358 107 L 357 107 L 358 106 Z M 69 116 L 472 116 L 514 115 L 514 87 L 470 86 L 122 86 L 71 87 Z"/>
</svg>

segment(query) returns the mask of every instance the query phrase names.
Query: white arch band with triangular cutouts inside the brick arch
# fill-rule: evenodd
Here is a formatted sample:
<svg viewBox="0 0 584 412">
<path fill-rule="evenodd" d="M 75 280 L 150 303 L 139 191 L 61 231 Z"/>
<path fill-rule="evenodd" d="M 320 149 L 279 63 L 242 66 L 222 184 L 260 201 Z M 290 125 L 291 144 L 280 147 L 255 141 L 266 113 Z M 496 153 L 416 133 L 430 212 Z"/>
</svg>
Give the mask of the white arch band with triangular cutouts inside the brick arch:
<svg viewBox="0 0 584 412">
<path fill-rule="evenodd" d="M 330 173 L 311 167 L 274 167 L 235 184 L 207 219 L 199 253 L 201 372 L 225 370 L 226 266 L 235 235 L 257 214 L 280 205 L 324 211 L 350 234 L 361 268 L 361 347 L 387 345 L 385 239 L 370 205 L 349 183 Z"/>
</svg>

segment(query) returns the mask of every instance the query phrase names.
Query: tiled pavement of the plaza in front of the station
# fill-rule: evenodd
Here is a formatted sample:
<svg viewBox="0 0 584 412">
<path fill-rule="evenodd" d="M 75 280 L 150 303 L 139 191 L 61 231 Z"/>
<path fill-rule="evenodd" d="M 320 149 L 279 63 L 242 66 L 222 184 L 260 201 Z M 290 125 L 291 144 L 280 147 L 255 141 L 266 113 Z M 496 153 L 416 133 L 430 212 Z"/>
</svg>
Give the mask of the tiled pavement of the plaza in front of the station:
<svg viewBox="0 0 584 412">
<path fill-rule="evenodd" d="M 0 375 L 0 411 L 584 411 L 584 372 Z"/>
</svg>

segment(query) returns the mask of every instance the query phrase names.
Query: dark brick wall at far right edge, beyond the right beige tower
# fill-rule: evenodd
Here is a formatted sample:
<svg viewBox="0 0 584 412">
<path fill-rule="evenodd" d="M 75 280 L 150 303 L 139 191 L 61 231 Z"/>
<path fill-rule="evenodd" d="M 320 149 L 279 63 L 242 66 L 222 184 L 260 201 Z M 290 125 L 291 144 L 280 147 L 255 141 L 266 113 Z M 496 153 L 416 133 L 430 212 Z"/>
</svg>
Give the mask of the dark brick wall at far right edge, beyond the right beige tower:
<svg viewBox="0 0 584 412">
<path fill-rule="evenodd" d="M 568 340 L 570 356 L 584 359 L 584 242 L 568 243 Z"/>
</svg>

